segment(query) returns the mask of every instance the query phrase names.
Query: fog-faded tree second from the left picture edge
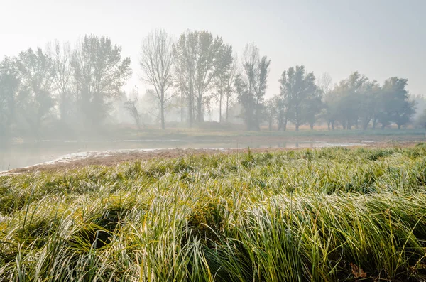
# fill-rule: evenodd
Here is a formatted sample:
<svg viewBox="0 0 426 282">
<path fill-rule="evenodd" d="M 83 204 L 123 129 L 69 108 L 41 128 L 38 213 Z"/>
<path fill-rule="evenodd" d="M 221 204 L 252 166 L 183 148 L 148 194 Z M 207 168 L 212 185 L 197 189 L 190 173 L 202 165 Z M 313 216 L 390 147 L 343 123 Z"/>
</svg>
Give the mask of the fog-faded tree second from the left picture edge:
<svg viewBox="0 0 426 282">
<path fill-rule="evenodd" d="M 39 139 L 42 123 L 55 104 L 52 96 L 52 60 L 41 48 L 35 52 L 30 48 L 19 54 L 18 68 L 21 78 L 18 95 L 21 114 Z"/>
</svg>

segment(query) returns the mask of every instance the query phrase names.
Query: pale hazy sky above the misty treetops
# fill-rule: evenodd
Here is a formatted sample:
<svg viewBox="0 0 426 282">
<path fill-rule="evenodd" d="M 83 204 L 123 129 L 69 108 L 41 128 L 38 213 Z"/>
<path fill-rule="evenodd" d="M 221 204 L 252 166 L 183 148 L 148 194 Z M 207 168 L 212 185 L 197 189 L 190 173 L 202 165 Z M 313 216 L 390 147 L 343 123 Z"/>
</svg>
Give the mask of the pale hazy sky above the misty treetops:
<svg viewBox="0 0 426 282">
<path fill-rule="evenodd" d="M 408 78 L 411 93 L 426 94 L 425 13 L 424 0 L 0 0 L 0 58 L 53 40 L 109 36 L 132 60 L 131 90 L 145 87 L 138 66 L 144 36 L 155 28 L 175 38 L 204 29 L 237 53 L 253 42 L 271 58 L 268 97 L 295 65 L 328 72 L 334 83 L 354 71 L 381 83 Z"/>
</svg>

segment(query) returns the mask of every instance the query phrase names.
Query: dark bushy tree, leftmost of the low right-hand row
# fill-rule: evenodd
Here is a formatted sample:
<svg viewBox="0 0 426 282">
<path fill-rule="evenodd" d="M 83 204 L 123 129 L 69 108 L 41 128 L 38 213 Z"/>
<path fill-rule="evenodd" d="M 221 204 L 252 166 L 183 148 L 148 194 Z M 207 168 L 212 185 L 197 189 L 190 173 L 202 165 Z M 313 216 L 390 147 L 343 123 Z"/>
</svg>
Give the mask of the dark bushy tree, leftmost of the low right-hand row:
<svg viewBox="0 0 426 282">
<path fill-rule="evenodd" d="M 320 91 L 315 85 L 313 72 L 305 73 L 305 66 L 297 65 L 284 71 L 280 78 L 280 96 L 285 105 L 285 124 L 290 120 L 299 126 L 309 121 L 311 128 L 315 123 L 315 115 L 320 112 Z"/>
</svg>

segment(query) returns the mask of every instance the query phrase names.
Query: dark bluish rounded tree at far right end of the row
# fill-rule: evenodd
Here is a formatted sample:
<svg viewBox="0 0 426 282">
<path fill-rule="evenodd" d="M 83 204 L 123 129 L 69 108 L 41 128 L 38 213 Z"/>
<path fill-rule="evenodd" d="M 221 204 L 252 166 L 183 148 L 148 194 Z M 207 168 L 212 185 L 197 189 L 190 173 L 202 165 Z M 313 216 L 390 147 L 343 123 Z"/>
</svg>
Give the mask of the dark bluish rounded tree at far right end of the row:
<svg viewBox="0 0 426 282">
<path fill-rule="evenodd" d="M 415 114 L 415 102 L 409 99 L 408 91 L 405 90 L 407 84 L 408 80 L 399 77 L 391 77 L 383 84 L 379 114 L 382 129 L 391 121 L 400 129 Z"/>
</svg>

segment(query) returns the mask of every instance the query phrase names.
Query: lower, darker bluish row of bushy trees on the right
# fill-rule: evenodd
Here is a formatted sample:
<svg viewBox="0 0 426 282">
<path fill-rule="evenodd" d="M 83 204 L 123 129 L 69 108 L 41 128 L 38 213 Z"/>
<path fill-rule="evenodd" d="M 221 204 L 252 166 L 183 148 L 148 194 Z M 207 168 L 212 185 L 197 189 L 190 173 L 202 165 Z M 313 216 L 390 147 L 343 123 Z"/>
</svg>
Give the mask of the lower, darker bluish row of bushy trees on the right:
<svg viewBox="0 0 426 282">
<path fill-rule="evenodd" d="M 334 130 L 339 123 L 343 129 L 368 126 L 381 129 L 395 123 L 398 129 L 408 124 L 415 114 L 415 101 L 405 89 L 408 80 L 390 77 L 383 85 L 369 80 L 359 72 L 332 87 L 331 77 L 324 74 L 315 79 L 303 65 L 290 67 L 280 77 L 280 93 L 266 101 L 266 116 L 271 128 L 287 128 L 290 121 L 295 130 L 302 124 L 313 129 L 317 121 L 325 121 Z"/>
</svg>

